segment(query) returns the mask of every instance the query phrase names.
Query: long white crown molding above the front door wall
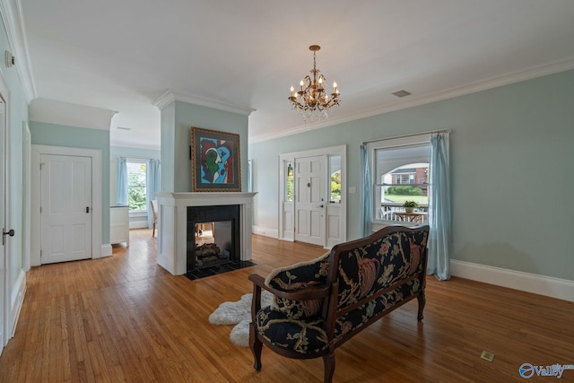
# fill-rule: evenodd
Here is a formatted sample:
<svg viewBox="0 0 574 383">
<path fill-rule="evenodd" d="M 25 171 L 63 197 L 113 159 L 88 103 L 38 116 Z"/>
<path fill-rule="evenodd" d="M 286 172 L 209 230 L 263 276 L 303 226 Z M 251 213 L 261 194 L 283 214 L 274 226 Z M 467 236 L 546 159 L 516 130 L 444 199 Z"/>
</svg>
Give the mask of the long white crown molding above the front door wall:
<svg viewBox="0 0 574 383">
<path fill-rule="evenodd" d="M 531 66 L 526 69 L 521 69 L 509 74 L 500 74 L 485 80 L 477 81 L 474 83 L 467 83 L 465 85 L 457 86 L 454 88 L 446 89 L 443 91 L 436 91 L 429 95 L 420 97 L 409 97 L 407 100 L 401 100 L 392 104 L 386 104 L 377 108 L 362 109 L 352 115 L 347 115 L 342 118 L 329 118 L 324 122 L 308 124 L 305 126 L 293 127 L 291 129 L 284 129 L 283 132 L 271 135 L 257 135 L 249 138 L 249 144 L 257 144 L 276 138 L 285 137 L 287 135 L 296 135 L 303 132 L 319 129 L 326 126 L 335 126 L 345 122 L 354 121 L 360 118 L 369 118 L 378 116 L 388 112 L 393 112 L 402 109 L 409 109 L 418 107 L 431 102 L 453 99 L 455 97 L 465 96 L 478 91 L 487 91 L 489 89 L 498 88 L 500 86 L 509 85 L 512 83 L 520 83 L 526 80 L 532 80 L 537 77 L 543 77 L 549 74 L 557 74 L 574 69 L 574 57 L 553 61 L 544 65 Z"/>
</svg>

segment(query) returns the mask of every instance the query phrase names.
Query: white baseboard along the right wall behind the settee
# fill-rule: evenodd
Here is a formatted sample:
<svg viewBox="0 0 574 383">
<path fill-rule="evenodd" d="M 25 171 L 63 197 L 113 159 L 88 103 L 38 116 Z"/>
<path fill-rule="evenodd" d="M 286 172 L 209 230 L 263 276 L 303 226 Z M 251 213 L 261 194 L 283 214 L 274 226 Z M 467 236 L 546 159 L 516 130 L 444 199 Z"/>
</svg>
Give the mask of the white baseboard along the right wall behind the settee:
<svg viewBox="0 0 574 383">
<path fill-rule="evenodd" d="M 450 273 L 473 281 L 491 283 L 523 292 L 534 292 L 559 300 L 574 301 L 574 281 L 567 279 L 473 264 L 456 259 L 450 260 Z"/>
</svg>

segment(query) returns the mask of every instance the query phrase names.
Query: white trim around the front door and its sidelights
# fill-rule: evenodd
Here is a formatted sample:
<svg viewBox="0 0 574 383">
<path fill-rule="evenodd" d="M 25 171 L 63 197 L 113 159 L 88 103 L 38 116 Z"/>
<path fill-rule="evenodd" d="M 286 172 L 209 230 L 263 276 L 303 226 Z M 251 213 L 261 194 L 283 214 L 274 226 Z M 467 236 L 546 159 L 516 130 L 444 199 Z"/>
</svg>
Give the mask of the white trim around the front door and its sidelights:
<svg viewBox="0 0 574 383">
<path fill-rule="evenodd" d="M 283 216 L 283 211 L 284 211 L 284 205 L 285 205 L 285 179 L 286 179 L 286 174 L 285 174 L 285 170 L 286 170 L 286 166 L 285 163 L 287 162 L 291 162 L 294 164 L 294 162 L 298 159 L 298 158 L 305 158 L 305 157 L 316 157 L 316 156 L 326 156 L 328 159 L 328 156 L 332 156 L 332 155 L 338 155 L 341 156 L 341 204 L 340 206 L 338 206 L 338 208 L 340 209 L 340 227 L 339 227 L 339 232 L 340 232 L 340 240 L 339 241 L 334 241 L 332 239 L 329 239 L 328 234 L 327 234 L 327 238 L 326 238 L 326 243 L 324 244 L 325 248 L 332 248 L 333 246 L 335 246 L 336 243 L 341 243 L 344 242 L 347 239 L 347 145 L 338 145 L 338 146 L 329 146 L 326 148 L 318 148 L 318 149 L 312 149 L 309 151 L 302 151 L 302 152 L 290 152 L 290 153 L 283 153 L 279 155 L 279 194 L 278 194 L 278 199 L 279 199 L 279 212 L 278 212 L 278 216 L 279 216 L 279 224 L 278 224 L 278 235 L 277 238 L 278 239 L 283 239 L 283 240 L 288 240 L 288 241 L 294 241 L 295 237 L 294 237 L 294 222 L 292 224 L 286 223 L 285 217 Z M 328 161 L 327 161 L 327 169 L 328 169 Z M 327 185 L 330 184 L 331 179 L 329 178 L 328 174 L 326 174 L 326 183 Z M 297 189 L 297 186 L 295 186 L 295 189 Z M 326 187 L 326 195 L 328 194 L 328 191 L 330 190 L 330 187 Z M 326 198 L 326 203 L 327 206 L 328 204 L 328 196 L 325 196 Z M 295 204 L 295 202 L 293 201 L 293 206 Z M 293 207 L 294 208 L 294 207 Z M 294 210 L 293 210 L 294 211 Z M 328 213 L 325 214 L 325 219 L 327 219 Z"/>
</svg>

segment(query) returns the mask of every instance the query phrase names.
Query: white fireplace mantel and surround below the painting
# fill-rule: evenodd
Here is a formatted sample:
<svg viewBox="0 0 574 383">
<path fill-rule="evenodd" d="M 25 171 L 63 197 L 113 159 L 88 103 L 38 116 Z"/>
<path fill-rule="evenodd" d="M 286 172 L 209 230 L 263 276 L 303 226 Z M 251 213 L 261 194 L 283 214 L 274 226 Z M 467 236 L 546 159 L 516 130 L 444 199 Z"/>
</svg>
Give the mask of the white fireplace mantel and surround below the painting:
<svg viewBox="0 0 574 383">
<path fill-rule="evenodd" d="M 239 205 L 240 257 L 251 259 L 251 215 L 257 193 L 156 193 L 158 265 L 171 274 L 187 273 L 187 206 Z"/>
</svg>

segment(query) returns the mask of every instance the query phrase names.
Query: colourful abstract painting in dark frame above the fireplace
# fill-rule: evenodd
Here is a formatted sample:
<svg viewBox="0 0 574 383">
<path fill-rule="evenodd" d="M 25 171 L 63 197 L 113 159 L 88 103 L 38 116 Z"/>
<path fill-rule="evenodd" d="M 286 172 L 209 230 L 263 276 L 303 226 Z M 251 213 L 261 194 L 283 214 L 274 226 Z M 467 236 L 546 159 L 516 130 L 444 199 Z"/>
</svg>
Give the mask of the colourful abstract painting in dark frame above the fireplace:
<svg viewBox="0 0 574 383">
<path fill-rule="evenodd" d="M 191 128 L 191 178 L 197 192 L 240 192 L 239 135 Z"/>
</svg>

